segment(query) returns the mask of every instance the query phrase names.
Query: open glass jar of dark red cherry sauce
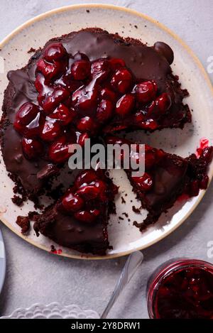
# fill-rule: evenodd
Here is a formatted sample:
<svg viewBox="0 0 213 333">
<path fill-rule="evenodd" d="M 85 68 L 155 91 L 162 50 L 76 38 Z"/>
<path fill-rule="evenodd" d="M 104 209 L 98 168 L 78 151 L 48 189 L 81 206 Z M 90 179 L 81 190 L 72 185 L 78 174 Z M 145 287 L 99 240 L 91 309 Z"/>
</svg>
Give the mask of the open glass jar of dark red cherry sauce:
<svg viewBox="0 0 213 333">
<path fill-rule="evenodd" d="M 151 319 L 213 319 L 213 265 L 169 261 L 151 276 L 147 295 Z"/>
</svg>

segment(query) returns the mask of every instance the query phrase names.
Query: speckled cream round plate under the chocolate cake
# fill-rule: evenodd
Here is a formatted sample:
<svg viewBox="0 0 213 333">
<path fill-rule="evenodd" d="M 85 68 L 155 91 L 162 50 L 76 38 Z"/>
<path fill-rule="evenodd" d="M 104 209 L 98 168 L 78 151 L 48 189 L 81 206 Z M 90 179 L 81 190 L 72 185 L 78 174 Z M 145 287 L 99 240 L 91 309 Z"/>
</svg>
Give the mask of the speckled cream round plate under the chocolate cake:
<svg viewBox="0 0 213 333">
<path fill-rule="evenodd" d="M 175 62 L 172 67 L 175 73 L 180 76 L 182 87 L 187 88 L 190 92 L 190 97 L 185 102 L 190 105 L 190 109 L 193 109 L 192 124 L 187 124 L 184 130 L 165 129 L 156 131 L 152 135 L 144 135 L 143 133 L 143 142 L 157 148 L 163 148 L 168 152 L 178 153 L 183 157 L 196 151 L 201 138 L 208 138 L 211 143 L 213 142 L 212 84 L 200 61 L 178 36 L 175 36 L 162 24 L 136 11 L 111 5 L 87 4 L 62 7 L 33 18 L 6 37 L 0 44 L 1 59 L 5 59 L 4 72 L 0 74 L 0 103 L 2 103 L 4 89 L 8 84 L 6 72 L 26 65 L 30 57 L 28 54 L 30 48 L 37 49 L 50 38 L 94 26 L 107 29 L 111 33 L 118 32 L 121 36 L 138 38 L 148 42 L 148 45 L 153 45 L 156 40 L 162 40 L 168 43 L 175 52 Z M 140 140 L 141 133 L 136 132 L 130 136 Z M 131 191 L 131 185 L 129 185 L 126 175 L 121 170 L 114 170 L 112 173 L 115 182 L 121 185 L 123 193 L 116 200 L 117 215 L 112 216 L 109 222 L 109 241 L 113 245 L 113 249 L 107 253 L 107 256 L 101 258 L 124 256 L 136 249 L 145 249 L 160 241 L 187 219 L 205 192 L 201 191 L 199 196 L 187 202 L 178 202 L 168 211 L 168 214 L 163 214 L 160 217 L 155 226 L 141 234 L 133 226 L 133 221 L 143 221 L 146 217 L 146 211 L 141 211 L 139 215 L 132 212 L 132 205 L 139 207 L 140 204 Z M 213 166 L 211 165 L 209 169 L 210 179 L 212 179 L 212 173 Z M 53 241 L 43 236 L 37 238 L 33 230 L 28 236 L 21 235 L 20 229 L 15 223 L 16 217 L 20 214 L 27 214 L 29 210 L 33 209 L 33 204 L 27 202 L 22 208 L 13 205 L 11 202 L 13 182 L 6 174 L 4 163 L 0 164 L 0 175 L 0 218 L 13 232 L 45 251 L 50 251 L 50 246 L 54 245 L 57 250 L 61 250 L 58 251 L 61 256 L 100 258 L 90 255 L 82 256 L 70 249 L 61 249 L 53 244 Z M 125 198 L 125 204 L 122 204 L 121 196 Z M 124 212 L 129 213 L 130 222 L 125 219 L 124 215 L 121 215 Z M 119 222 L 119 216 L 123 216 L 124 220 Z"/>
</svg>

